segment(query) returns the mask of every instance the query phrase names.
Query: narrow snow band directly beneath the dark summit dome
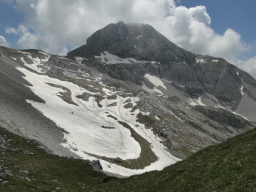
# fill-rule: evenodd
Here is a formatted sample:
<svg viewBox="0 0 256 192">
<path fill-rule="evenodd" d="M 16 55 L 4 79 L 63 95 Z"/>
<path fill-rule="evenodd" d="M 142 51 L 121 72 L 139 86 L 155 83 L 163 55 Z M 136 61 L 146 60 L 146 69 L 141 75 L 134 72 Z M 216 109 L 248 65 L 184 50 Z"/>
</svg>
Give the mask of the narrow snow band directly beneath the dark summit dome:
<svg viewBox="0 0 256 192">
<path fill-rule="evenodd" d="M 107 51 L 103 51 L 100 53 L 100 56 L 95 56 L 98 60 L 105 64 L 117 64 L 117 63 L 124 63 L 124 64 L 131 64 L 131 63 L 156 63 L 160 64 L 156 61 L 146 61 L 146 60 L 136 60 L 134 58 L 119 58 L 117 55 L 112 55 Z"/>
</svg>

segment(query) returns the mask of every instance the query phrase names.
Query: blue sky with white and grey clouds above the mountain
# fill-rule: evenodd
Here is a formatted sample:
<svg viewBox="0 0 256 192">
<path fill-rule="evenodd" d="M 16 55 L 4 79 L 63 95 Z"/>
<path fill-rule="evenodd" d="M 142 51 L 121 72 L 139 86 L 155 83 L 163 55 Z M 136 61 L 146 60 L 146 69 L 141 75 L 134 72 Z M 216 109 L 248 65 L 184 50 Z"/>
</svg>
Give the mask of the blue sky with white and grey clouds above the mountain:
<svg viewBox="0 0 256 192">
<path fill-rule="evenodd" d="M 149 23 L 193 53 L 256 77 L 255 0 L 0 0 L 0 45 L 64 54 L 109 23 Z"/>
</svg>

